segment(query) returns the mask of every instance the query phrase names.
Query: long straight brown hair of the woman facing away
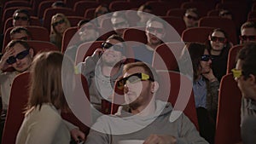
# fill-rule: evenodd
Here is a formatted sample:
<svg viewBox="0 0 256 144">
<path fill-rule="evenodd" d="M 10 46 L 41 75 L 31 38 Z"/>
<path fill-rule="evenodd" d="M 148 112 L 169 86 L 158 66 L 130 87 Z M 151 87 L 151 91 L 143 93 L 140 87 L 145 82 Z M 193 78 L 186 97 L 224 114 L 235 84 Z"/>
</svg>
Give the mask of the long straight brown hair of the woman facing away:
<svg viewBox="0 0 256 144">
<path fill-rule="evenodd" d="M 67 71 L 62 71 L 62 73 L 64 55 L 61 52 L 44 52 L 37 55 L 32 61 L 28 112 L 34 107 L 40 109 L 45 103 L 52 104 L 56 109 L 62 111 L 68 110 L 61 76 L 62 78 L 73 78 L 71 77 L 73 76 L 73 63 L 66 59 L 68 58 L 65 57 L 65 70 Z M 72 81 L 68 83 L 72 83 Z"/>
</svg>

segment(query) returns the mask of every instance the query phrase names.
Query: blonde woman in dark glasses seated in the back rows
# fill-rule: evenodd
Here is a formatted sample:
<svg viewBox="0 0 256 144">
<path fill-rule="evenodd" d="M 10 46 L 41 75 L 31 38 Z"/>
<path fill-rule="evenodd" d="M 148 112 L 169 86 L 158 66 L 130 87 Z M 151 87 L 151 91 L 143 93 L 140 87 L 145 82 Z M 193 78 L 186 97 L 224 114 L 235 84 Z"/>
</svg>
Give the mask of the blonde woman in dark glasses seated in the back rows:
<svg viewBox="0 0 256 144">
<path fill-rule="evenodd" d="M 55 14 L 51 18 L 49 39 L 51 43 L 61 49 L 63 33 L 70 27 L 70 22 L 64 14 Z"/>
</svg>

